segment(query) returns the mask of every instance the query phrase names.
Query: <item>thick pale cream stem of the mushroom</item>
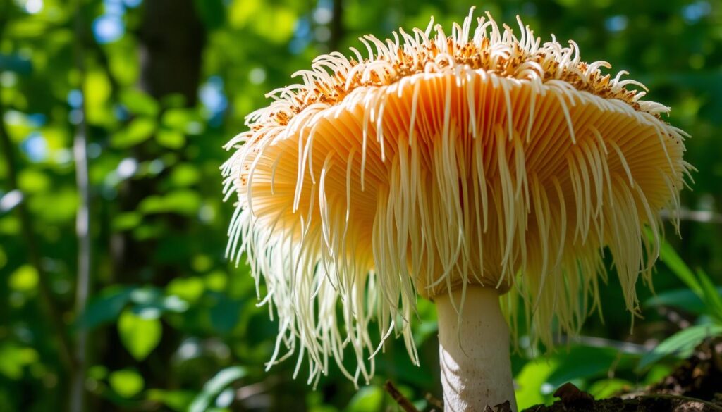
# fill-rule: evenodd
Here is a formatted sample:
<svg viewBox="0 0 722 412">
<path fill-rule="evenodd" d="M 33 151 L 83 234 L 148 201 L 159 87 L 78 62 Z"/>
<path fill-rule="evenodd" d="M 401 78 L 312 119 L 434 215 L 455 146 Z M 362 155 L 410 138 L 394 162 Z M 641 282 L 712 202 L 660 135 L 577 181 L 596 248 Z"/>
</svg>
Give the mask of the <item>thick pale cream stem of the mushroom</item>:
<svg viewBox="0 0 722 412">
<path fill-rule="evenodd" d="M 517 411 L 509 358 L 509 328 L 496 289 L 469 285 L 434 297 L 446 412 L 484 411 L 509 401 Z M 461 310 L 461 317 L 458 310 Z M 461 341 L 460 341 L 461 339 Z"/>
</svg>

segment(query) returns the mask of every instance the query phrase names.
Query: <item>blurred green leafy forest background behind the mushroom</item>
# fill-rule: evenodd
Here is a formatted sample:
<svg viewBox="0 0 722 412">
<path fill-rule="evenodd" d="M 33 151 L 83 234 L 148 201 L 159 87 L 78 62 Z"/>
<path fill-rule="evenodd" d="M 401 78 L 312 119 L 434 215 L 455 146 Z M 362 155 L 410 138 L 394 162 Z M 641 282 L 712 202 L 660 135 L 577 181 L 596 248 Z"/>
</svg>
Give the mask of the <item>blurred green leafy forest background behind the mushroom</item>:
<svg viewBox="0 0 722 412">
<path fill-rule="evenodd" d="M 420 368 L 391 343 L 359 390 L 334 369 L 313 390 L 293 360 L 266 371 L 277 325 L 224 258 L 219 165 L 244 115 L 314 56 L 431 15 L 450 27 L 472 4 L 630 71 L 692 135 L 699 170 L 656 295 L 638 285 L 643 318 L 630 330 L 612 276 L 581 338 L 544 356 L 522 336 L 520 406 L 567 381 L 637 390 L 722 333 L 718 0 L 0 0 L 0 411 L 394 411 L 386 380 L 430 408 L 428 302 Z"/>
</svg>

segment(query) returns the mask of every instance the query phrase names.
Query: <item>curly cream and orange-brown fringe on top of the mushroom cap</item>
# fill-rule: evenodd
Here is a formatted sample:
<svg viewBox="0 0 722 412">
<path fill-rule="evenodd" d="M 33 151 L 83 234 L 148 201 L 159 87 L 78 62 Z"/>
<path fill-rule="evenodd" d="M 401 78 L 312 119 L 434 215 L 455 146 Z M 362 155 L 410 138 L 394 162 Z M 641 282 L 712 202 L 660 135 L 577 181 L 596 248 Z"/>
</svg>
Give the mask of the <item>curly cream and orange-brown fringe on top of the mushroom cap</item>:
<svg viewBox="0 0 722 412">
<path fill-rule="evenodd" d="M 248 126 L 268 127 L 274 123 L 285 126 L 310 105 L 335 105 L 358 87 L 387 86 L 412 74 L 435 73 L 449 66 L 467 66 L 511 79 L 542 83 L 560 80 L 579 91 L 622 100 L 635 110 L 653 115 L 669 112 L 669 108 L 658 102 L 641 100 L 646 95 L 646 87 L 635 80 L 622 79 L 626 71 L 619 71 L 612 78 L 600 71 L 611 68 L 606 61 L 581 61 L 573 41 L 564 47 L 552 35 L 552 41 L 542 45 L 541 38 L 534 37 L 534 31 L 523 26 L 521 19 L 518 19 L 521 38 L 517 38 L 510 27 L 504 25 L 502 31 L 491 16 L 488 17 L 477 18 L 473 33 L 470 32 L 473 17 L 469 14 L 463 26 L 454 23 L 451 36 L 446 36 L 440 25 L 434 25 L 433 18 L 425 31 L 414 28 L 413 35 L 403 29 L 393 32 L 393 40 L 382 41 L 366 35 L 359 38 L 365 45 L 366 58 L 356 48 L 351 48 L 352 58 L 339 52 L 318 56 L 311 70 L 293 74 L 303 79 L 302 84 L 269 92 L 266 97 L 275 102 L 249 115 Z M 471 38 L 470 34 L 473 34 Z M 643 90 L 629 90 L 626 88 L 629 85 Z"/>
</svg>

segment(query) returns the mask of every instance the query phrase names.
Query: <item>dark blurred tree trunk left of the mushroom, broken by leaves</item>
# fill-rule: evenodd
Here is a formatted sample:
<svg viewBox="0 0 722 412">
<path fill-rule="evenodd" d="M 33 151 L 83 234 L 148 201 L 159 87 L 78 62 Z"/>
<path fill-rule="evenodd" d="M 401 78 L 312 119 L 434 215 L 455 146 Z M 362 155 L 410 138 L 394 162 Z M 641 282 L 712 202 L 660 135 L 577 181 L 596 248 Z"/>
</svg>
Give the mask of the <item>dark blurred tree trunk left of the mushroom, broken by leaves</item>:
<svg viewBox="0 0 722 412">
<path fill-rule="evenodd" d="M 139 88 L 155 97 L 163 107 L 163 100 L 170 95 L 183 97 L 184 105 L 196 105 L 201 73 L 201 55 L 206 43 L 206 30 L 193 0 L 146 0 L 144 17 L 139 29 L 140 61 L 142 65 Z M 182 150 L 178 157 L 183 157 Z M 160 158 L 168 152 L 160 149 L 153 139 L 136 146 L 133 156 L 139 163 Z M 172 167 L 172 166 L 171 166 Z M 161 194 L 160 177 L 129 179 L 118 192 L 117 207 L 121 211 L 135 211 L 147 196 Z M 190 218 L 177 214 L 152 216 L 154 224 L 160 224 L 171 232 L 182 232 L 190 225 Z M 144 222 L 144 224 L 147 222 Z M 155 284 L 165 286 L 170 279 L 188 269 L 184 267 L 187 257 L 180 257 L 173 263 L 162 266 L 155 263 L 155 240 L 137 240 L 132 231 L 116 233 L 111 238 L 110 250 L 113 256 L 113 273 L 116 283 Z M 160 345 L 155 349 L 152 362 L 138 364 L 139 372 L 145 378 L 146 387 L 173 387 L 172 374 L 165 367 L 180 343 L 177 330 L 164 325 Z M 108 330 L 108 341 L 103 350 L 102 364 L 110 371 L 123 365 L 132 364 L 129 354 L 120 343 L 116 328 Z M 112 405 L 103 405 L 97 410 L 113 410 Z"/>
</svg>

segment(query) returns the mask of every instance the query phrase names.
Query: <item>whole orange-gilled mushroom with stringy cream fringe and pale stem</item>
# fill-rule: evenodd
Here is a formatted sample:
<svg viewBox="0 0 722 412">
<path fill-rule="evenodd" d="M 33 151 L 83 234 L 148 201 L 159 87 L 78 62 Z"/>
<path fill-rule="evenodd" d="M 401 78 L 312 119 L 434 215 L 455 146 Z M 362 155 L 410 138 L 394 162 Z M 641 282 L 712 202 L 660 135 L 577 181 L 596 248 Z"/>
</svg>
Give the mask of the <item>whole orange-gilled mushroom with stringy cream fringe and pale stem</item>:
<svg viewBox="0 0 722 412">
<path fill-rule="evenodd" d="M 269 367 L 298 351 L 309 383 L 331 361 L 368 382 L 392 335 L 419 364 L 420 295 L 438 310 L 445 408 L 516 411 L 520 312 L 534 342 L 552 346 L 552 325 L 578 333 L 601 309 L 605 251 L 638 311 L 659 211 L 679 208 L 691 170 L 687 135 L 625 71 L 602 74 L 609 63 L 541 43 L 521 19 L 520 36 L 488 14 L 472 27 L 473 12 L 451 35 L 431 19 L 319 56 L 225 146 L 227 253 L 245 253 L 279 319 Z"/>
</svg>

